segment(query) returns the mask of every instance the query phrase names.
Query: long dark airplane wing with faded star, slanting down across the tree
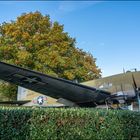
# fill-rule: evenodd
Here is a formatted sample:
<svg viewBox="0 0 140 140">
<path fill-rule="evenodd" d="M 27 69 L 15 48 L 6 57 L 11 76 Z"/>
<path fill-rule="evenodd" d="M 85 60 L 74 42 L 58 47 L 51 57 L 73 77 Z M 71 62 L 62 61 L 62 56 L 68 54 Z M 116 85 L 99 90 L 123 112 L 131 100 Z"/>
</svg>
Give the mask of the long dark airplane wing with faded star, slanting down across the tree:
<svg viewBox="0 0 140 140">
<path fill-rule="evenodd" d="M 46 74 L 0 62 L 0 79 L 79 106 L 94 107 L 110 96 L 107 91 L 55 78 Z"/>
</svg>

